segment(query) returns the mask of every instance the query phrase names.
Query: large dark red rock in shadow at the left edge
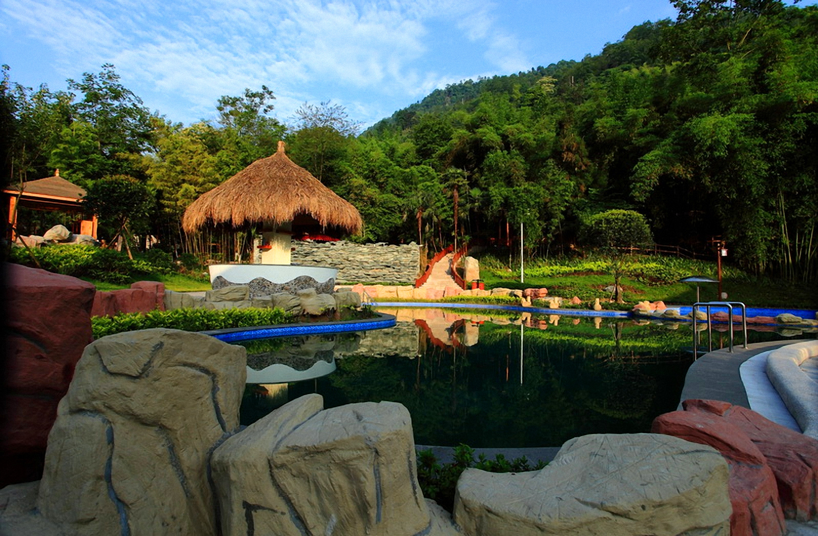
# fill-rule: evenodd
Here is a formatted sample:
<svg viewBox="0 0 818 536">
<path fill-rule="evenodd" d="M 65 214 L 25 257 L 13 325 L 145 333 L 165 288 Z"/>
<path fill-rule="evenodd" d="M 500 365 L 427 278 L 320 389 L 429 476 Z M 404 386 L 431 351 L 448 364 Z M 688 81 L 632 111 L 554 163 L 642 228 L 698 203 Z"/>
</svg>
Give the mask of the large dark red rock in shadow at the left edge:
<svg viewBox="0 0 818 536">
<path fill-rule="evenodd" d="M 91 342 L 96 289 L 75 277 L 7 264 L 6 389 L 0 488 L 38 480 L 48 432 L 74 365 Z"/>
</svg>

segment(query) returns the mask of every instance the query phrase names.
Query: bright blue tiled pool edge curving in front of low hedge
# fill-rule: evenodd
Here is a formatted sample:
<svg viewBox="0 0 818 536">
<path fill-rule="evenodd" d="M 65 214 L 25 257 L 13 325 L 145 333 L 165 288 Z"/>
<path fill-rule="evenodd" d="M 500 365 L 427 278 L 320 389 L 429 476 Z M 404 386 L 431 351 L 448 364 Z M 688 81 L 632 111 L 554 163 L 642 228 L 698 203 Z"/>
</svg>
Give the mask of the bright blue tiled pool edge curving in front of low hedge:
<svg viewBox="0 0 818 536">
<path fill-rule="evenodd" d="M 320 335 L 323 333 L 347 333 L 349 331 L 369 331 L 394 327 L 395 317 L 386 313 L 375 313 L 377 318 L 367 320 L 341 320 L 339 322 L 315 322 L 300 324 L 281 324 L 278 326 L 231 327 L 223 330 L 200 331 L 203 335 L 212 336 L 222 342 L 240 340 L 270 339 L 272 337 L 289 337 L 300 335 Z"/>
</svg>

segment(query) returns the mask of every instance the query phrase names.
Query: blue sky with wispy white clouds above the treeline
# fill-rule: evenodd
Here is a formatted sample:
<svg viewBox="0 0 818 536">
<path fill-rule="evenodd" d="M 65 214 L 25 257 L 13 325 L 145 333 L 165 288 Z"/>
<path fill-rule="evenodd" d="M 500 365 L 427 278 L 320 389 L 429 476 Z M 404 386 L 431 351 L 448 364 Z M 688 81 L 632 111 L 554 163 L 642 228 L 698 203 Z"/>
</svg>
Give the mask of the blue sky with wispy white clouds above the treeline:
<svg viewBox="0 0 818 536">
<path fill-rule="evenodd" d="M 112 63 L 186 124 L 265 84 L 285 123 L 331 100 L 369 125 L 447 83 L 579 60 L 673 16 L 667 0 L 0 0 L 0 63 L 52 89 Z"/>
</svg>

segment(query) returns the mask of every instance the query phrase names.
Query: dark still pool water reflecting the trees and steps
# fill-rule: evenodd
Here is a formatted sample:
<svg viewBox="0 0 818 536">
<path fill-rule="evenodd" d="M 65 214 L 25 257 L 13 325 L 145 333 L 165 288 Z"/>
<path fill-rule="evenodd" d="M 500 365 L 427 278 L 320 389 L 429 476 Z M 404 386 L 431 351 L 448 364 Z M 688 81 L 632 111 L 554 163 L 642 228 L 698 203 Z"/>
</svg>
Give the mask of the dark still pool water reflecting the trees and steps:
<svg viewBox="0 0 818 536">
<path fill-rule="evenodd" d="M 578 435 L 649 431 L 654 417 L 676 409 L 693 361 L 684 323 L 379 310 L 395 314 L 397 326 L 243 343 L 241 424 L 318 393 L 326 408 L 402 403 L 416 444 L 559 446 Z M 720 337 L 726 344 L 720 334 L 714 342 Z"/>
</svg>

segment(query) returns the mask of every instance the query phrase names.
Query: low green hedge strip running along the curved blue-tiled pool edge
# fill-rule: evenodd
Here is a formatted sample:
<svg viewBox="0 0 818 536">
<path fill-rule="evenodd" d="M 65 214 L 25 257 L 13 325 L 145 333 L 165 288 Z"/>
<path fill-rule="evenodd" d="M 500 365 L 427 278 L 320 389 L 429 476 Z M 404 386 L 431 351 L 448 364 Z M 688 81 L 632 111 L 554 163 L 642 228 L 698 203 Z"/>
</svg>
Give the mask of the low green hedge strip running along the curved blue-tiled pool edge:
<svg viewBox="0 0 818 536">
<path fill-rule="evenodd" d="M 228 327 L 273 326 L 292 322 L 283 309 L 173 309 L 149 313 L 120 313 L 115 317 L 91 319 L 94 339 L 121 333 L 167 327 L 183 331 L 221 330 Z"/>
</svg>

